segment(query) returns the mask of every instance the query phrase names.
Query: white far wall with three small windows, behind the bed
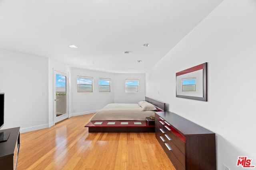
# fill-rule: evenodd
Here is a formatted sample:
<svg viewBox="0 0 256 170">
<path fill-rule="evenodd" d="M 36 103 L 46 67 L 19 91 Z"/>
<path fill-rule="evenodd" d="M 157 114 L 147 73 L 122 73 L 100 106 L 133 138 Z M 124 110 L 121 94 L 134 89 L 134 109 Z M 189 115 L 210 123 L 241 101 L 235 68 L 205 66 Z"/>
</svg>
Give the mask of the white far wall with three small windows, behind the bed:
<svg viewBox="0 0 256 170">
<path fill-rule="evenodd" d="M 88 76 L 94 78 L 92 93 L 78 93 L 76 84 L 77 76 Z M 111 92 L 100 93 L 98 90 L 99 78 L 111 79 Z M 125 80 L 138 79 L 139 92 L 126 93 Z M 71 113 L 72 115 L 82 115 L 95 113 L 102 107 L 110 103 L 136 103 L 145 99 L 145 74 L 116 74 L 96 70 L 81 68 L 71 68 L 70 78 L 71 88 Z"/>
</svg>

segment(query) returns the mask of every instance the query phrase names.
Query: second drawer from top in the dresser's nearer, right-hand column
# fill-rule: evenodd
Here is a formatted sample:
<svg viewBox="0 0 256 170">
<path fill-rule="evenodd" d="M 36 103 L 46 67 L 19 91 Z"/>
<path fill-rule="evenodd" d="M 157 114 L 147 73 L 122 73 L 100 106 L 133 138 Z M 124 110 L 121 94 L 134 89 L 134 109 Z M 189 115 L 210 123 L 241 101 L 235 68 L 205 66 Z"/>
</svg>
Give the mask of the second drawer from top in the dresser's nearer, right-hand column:
<svg viewBox="0 0 256 170">
<path fill-rule="evenodd" d="M 174 134 L 172 131 L 174 131 L 174 129 L 170 126 L 167 126 L 170 131 L 165 127 L 165 134 L 171 139 L 172 143 L 174 143 L 174 145 L 184 154 L 186 155 L 185 152 L 185 143 L 176 135 Z"/>
</svg>

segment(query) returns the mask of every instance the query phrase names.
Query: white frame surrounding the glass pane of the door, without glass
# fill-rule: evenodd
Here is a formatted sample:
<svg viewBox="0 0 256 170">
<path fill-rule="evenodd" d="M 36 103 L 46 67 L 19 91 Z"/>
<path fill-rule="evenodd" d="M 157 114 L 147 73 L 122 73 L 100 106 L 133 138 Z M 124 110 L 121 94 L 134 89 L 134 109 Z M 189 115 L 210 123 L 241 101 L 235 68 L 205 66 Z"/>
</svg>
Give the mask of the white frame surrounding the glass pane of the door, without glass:
<svg viewBox="0 0 256 170">
<path fill-rule="evenodd" d="M 66 114 L 64 115 L 60 115 L 58 117 L 56 117 L 56 74 L 62 74 L 64 76 L 66 76 Z M 55 125 L 55 123 L 62 121 L 64 119 L 67 119 L 69 117 L 69 109 L 68 109 L 68 96 L 69 96 L 69 91 L 68 91 L 68 78 L 69 74 L 68 72 L 63 72 L 63 71 L 59 71 L 59 70 L 55 70 L 53 68 L 53 124 Z"/>
</svg>

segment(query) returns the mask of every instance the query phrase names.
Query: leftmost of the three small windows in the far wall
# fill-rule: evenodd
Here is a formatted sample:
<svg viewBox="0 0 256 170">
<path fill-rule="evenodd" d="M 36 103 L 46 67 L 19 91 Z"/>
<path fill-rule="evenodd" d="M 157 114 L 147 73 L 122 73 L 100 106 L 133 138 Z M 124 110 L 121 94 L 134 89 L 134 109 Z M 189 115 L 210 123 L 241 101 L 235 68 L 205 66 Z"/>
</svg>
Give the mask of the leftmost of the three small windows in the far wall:
<svg viewBox="0 0 256 170">
<path fill-rule="evenodd" d="M 77 76 L 77 92 L 92 92 L 93 77 Z"/>
</svg>

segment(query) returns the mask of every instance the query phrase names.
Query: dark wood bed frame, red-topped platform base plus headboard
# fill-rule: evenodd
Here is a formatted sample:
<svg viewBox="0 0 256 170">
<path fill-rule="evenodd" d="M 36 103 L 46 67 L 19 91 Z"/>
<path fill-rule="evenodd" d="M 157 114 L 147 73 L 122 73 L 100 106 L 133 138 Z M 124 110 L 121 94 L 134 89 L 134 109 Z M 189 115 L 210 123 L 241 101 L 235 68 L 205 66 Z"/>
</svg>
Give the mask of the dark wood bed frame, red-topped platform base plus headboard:
<svg viewBox="0 0 256 170">
<path fill-rule="evenodd" d="M 165 103 L 145 97 L 145 101 L 153 104 L 159 111 L 166 111 Z M 98 124 L 97 124 L 97 123 Z M 100 124 L 99 124 L 100 122 Z M 115 122 L 114 125 L 109 124 Z M 148 125 L 146 117 L 144 121 L 90 121 L 84 127 L 89 132 L 154 132 L 155 125 Z"/>
</svg>

